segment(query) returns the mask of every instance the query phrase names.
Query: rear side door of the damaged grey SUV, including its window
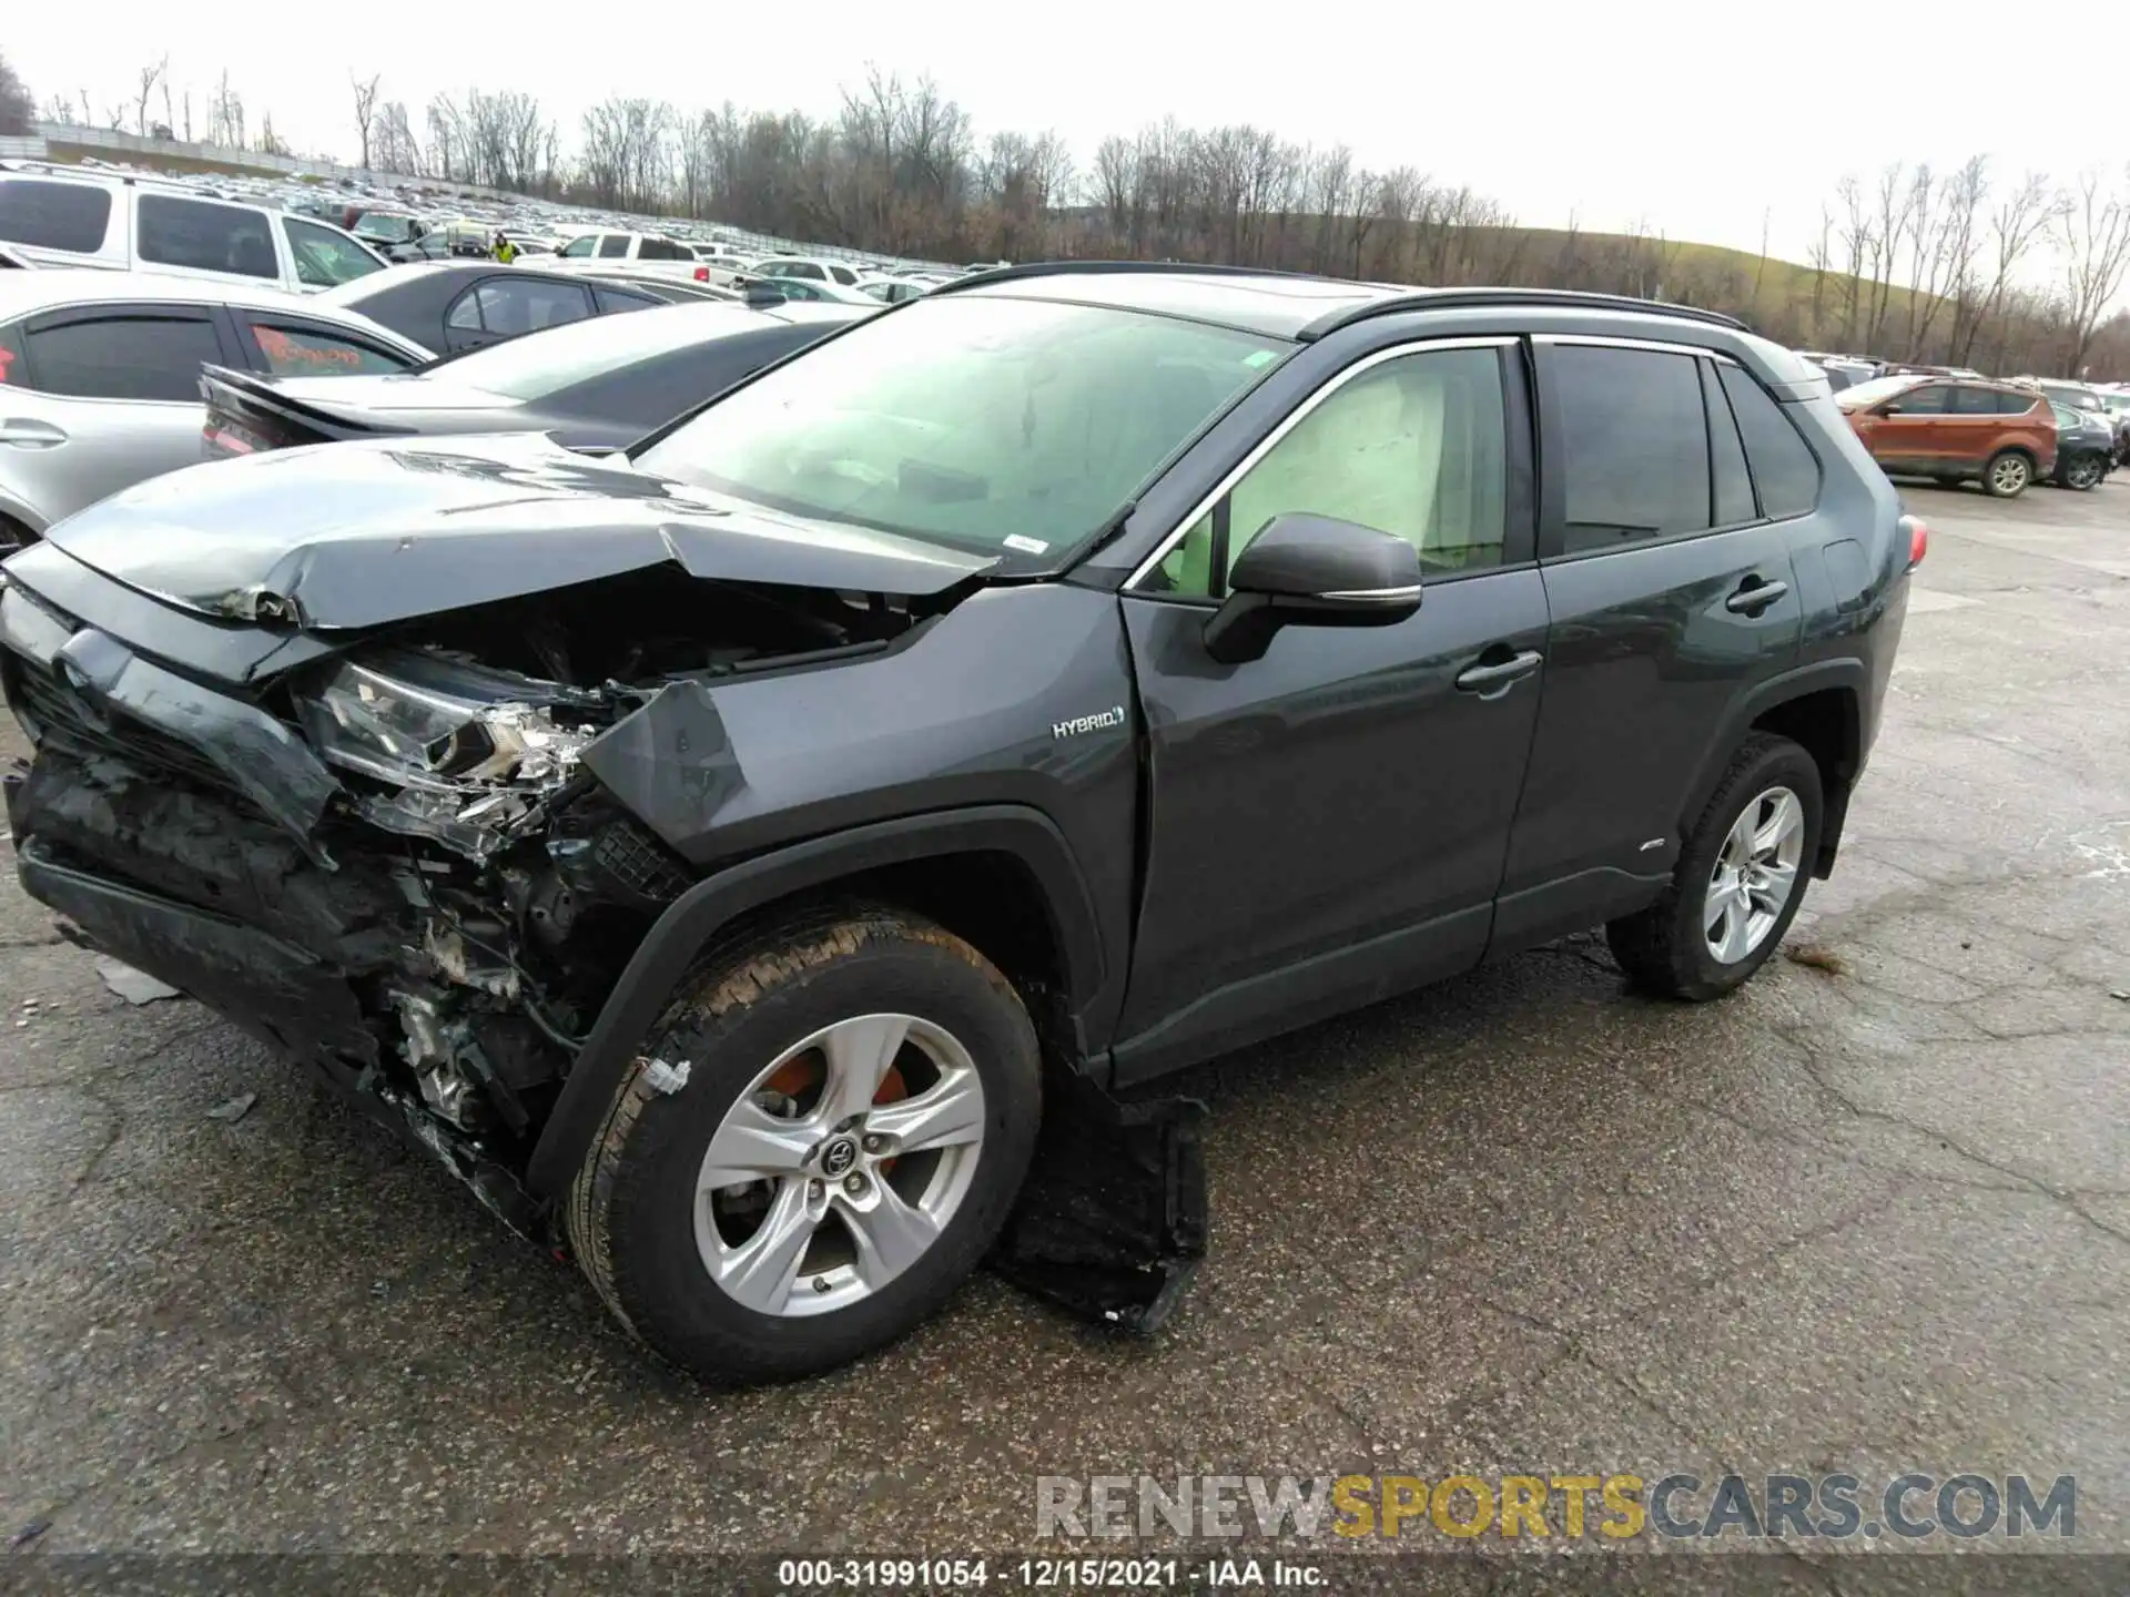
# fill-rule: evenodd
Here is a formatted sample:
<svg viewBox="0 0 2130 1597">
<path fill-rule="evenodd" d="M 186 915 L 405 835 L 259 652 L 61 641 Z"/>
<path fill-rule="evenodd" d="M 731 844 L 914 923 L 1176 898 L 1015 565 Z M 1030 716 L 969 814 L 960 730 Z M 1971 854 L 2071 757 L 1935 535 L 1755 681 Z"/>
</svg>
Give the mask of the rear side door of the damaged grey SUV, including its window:
<svg viewBox="0 0 2130 1597">
<path fill-rule="evenodd" d="M 1661 890 L 1708 739 L 1789 666 L 1804 613 L 1785 524 L 1753 496 L 1727 360 L 1570 336 L 1536 356 L 1546 692 L 1495 948 Z"/>
</svg>

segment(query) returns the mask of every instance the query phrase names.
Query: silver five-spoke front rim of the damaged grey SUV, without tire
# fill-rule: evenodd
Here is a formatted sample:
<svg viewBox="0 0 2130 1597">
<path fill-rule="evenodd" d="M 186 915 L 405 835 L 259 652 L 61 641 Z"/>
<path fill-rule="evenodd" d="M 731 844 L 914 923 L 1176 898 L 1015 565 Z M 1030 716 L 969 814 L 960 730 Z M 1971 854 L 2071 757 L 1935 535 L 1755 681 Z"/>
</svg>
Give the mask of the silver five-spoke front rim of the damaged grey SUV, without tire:
<svg viewBox="0 0 2130 1597">
<path fill-rule="evenodd" d="M 929 1080 L 882 1101 L 903 1067 Z M 805 1101 L 771 1086 L 794 1071 L 812 1077 Z M 982 1148 L 984 1082 L 952 1033 L 892 1014 L 822 1026 L 754 1077 L 703 1152 L 703 1269 L 756 1314 L 850 1307 L 939 1239 Z"/>
</svg>

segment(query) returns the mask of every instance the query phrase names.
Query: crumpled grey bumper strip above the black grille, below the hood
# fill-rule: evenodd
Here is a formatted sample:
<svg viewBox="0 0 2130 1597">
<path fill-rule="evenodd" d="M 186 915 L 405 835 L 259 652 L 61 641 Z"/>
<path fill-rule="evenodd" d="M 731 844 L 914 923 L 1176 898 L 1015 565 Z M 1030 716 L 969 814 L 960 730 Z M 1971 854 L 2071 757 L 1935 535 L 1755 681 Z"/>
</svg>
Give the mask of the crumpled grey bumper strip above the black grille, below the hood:
<svg viewBox="0 0 2130 1597">
<path fill-rule="evenodd" d="M 198 750 L 317 854 L 311 833 L 341 784 L 264 709 L 164 671 L 94 626 L 68 630 L 13 586 L 0 590 L 0 643 L 51 671 L 94 720 L 128 715 Z"/>
</svg>

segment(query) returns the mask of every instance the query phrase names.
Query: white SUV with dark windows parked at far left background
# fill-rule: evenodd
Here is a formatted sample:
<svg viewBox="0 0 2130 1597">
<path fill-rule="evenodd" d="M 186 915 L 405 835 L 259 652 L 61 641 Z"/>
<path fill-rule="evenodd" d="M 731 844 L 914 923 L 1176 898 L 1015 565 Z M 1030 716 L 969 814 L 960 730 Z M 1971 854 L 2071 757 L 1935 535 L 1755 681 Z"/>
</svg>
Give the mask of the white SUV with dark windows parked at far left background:
<svg viewBox="0 0 2130 1597">
<path fill-rule="evenodd" d="M 0 243 L 32 266 L 104 266 L 315 294 L 386 268 L 326 221 L 155 179 L 0 172 Z"/>
</svg>

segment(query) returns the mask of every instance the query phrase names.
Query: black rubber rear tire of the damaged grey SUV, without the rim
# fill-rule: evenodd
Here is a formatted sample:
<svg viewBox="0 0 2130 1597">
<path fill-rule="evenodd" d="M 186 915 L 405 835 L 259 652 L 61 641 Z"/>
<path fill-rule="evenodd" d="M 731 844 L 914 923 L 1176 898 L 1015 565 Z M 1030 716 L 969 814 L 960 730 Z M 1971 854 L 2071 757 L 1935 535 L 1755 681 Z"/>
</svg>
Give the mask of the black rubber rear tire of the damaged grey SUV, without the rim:
<svg viewBox="0 0 2130 1597">
<path fill-rule="evenodd" d="M 1744 807 L 1770 788 L 1789 788 L 1804 809 L 1804 845 L 1796 884 L 1768 935 L 1742 960 L 1725 965 L 1715 958 L 1704 935 L 1708 882 L 1730 828 Z M 1804 888 L 1819 852 L 1823 803 L 1819 767 L 1810 754 L 1787 737 L 1768 732 L 1747 737 L 1693 822 L 1687 845 L 1678 854 L 1678 867 L 1672 871 L 1672 886 L 1649 909 L 1623 916 L 1604 928 L 1612 958 L 1619 960 L 1627 979 L 1644 992 L 1704 1003 L 1723 997 L 1766 965 L 1789 931 L 1789 922 L 1796 920 L 1798 905 L 1804 903 Z"/>
</svg>

